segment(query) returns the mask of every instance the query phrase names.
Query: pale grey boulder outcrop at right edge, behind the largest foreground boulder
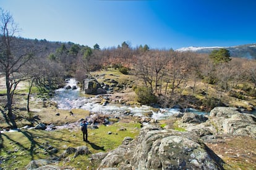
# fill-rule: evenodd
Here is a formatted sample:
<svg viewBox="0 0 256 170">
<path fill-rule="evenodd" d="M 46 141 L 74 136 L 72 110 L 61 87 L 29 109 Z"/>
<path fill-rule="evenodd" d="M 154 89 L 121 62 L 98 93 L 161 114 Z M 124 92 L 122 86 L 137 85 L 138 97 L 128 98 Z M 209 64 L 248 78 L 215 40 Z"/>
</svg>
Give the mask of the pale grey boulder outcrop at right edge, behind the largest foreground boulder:
<svg viewBox="0 0 256 170">
<path fill-rule="evenodd" d="M 185 113 L 179 126 L 195 132 L 198 137 L 229 134 L 256 139 L 256 116 L 242 113 L 234 107 L 215 107 L 208 116 Z"/>
</svg>

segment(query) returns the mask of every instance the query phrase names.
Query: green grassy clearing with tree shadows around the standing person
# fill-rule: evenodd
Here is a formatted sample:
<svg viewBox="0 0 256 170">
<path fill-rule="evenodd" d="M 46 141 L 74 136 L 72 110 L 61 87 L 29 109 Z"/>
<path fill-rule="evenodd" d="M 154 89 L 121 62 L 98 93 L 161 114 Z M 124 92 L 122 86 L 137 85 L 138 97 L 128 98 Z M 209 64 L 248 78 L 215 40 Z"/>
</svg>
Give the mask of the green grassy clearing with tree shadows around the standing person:
<svg viewBox="0 0 256 170">
<path fill-rule="evenodd" d="M 2 156 L 1 168 L 22 169 L 30 161 L 59 156 L 67 147 L 79 147 L 85 145 L 93 153 L 108 152 L 122 144 L 124 137 L 135 138 L 139 134 L 139 123 L 116 123 L 111 126 L 101 125 L 99 129 L 88 129 L 89 143 L 82 141 L 82 132 L 79 128 L 69 131 L 41 131 L 28 130 L 22 132 L 11 132 L 0 134 Z M 121 131 L 120 129 L 126 129 Z M 113 132 L 108 134 L 108 132 Z M 49 145 L 59 150 L 51 153 L 46 150 Z M 70 155 L 69 161 L 61 160 L 60 165 L 66 164 L 75 168 L 85 169 L 87 166 L 96 168 L 97 163 L 90 163 L 89 156 Z"/>
</svg>

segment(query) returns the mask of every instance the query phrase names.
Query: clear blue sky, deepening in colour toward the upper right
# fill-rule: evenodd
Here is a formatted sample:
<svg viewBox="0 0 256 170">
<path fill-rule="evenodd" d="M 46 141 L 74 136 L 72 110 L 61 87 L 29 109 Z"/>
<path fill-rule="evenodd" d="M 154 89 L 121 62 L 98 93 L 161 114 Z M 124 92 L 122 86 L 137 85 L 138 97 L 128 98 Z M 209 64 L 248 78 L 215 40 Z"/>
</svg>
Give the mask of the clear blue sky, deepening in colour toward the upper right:
<svg viewBox="0 0 256 170">
<path fill-rule="evenodd" d="M 256 43 L 254 0 L 0 0 L 19 36 L 151 49 Z"/>
</svg>

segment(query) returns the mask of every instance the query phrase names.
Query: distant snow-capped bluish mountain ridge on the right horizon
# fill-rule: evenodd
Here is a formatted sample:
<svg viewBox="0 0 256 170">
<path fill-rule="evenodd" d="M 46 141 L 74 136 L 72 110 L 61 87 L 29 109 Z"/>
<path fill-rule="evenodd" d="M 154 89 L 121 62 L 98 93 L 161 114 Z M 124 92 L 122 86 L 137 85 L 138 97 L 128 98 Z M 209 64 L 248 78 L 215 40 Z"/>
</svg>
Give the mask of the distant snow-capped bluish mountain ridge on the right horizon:
<svg viewBox="0 0 256 170">
<path fill-rule="evenodd" d="M 256 44 L 245 44 L 232 47 L 182 47 L 177 49 L 179 52 L 197 52 L 203 54 L 210 54 L 213 50 L 227 49 L 230 52 L 231 57 L 240 57 L 245 59 L 256 59 Z"/>
</svg>

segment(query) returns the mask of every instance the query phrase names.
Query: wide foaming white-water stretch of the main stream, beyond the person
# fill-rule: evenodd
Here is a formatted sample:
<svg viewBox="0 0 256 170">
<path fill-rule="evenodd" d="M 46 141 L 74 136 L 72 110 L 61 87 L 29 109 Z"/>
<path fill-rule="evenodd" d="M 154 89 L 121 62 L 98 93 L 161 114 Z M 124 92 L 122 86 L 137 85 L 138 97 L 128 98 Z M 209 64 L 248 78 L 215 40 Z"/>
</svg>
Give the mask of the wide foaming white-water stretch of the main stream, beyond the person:
<svg viewBox="0 0 256 170">
<path fill-rule="evenodd" d="M 76 86 L 75 79 L 69 79 L 66 86 Z M 95 99 L 93 98 L 88 99 L 86 97 L 80 97 L 79 92 L 79 87 L 75 90 L 61 88 L 56 90 L 56 94 L 52 100 L 58 104 L 58 108 L 60 109 L 70 110 L 72 108 L 82 108 L 83 110 L 103 113 L 107 115 L 125 115 L 128 113 L 129 115 L 131 114 L 134 116 L 143 116 L 144 113 L 153 113 L 151 117 L 154 119 L 166 119 L 168 116 L 173 115 L 174 113 L 179 113 L 177 108 L 160 108 L 158 111 L 155 111 L 156 109 L 147 105 L 137 107 L 109 103 L 108 105 L 103 106 L 99 103 L 96 103 Z M 203 114 L 197 110 L 189 109 L 189 111 Z"/>
</svg>

